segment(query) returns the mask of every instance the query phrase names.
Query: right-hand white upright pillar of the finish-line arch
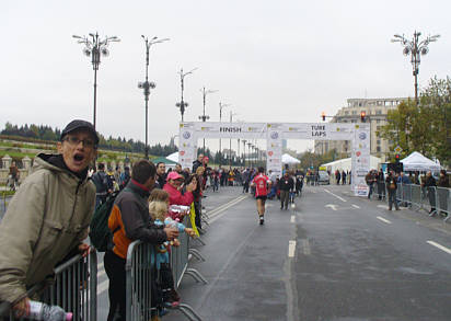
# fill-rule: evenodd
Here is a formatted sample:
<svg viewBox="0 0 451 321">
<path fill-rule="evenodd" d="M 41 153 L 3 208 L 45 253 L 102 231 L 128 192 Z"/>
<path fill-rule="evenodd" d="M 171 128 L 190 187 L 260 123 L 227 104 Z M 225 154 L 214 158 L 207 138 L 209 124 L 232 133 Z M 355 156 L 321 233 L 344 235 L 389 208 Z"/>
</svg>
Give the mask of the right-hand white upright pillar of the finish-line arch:
<svg viewBox="0 0 451 321">
<path fill-rule="evenodd" d="M 369 186 L 365 176 L 370 171 L 370 125 L 354 124 L 352 139 L 352 190 L 356 196 L 367 196 Z"/>
</svg>

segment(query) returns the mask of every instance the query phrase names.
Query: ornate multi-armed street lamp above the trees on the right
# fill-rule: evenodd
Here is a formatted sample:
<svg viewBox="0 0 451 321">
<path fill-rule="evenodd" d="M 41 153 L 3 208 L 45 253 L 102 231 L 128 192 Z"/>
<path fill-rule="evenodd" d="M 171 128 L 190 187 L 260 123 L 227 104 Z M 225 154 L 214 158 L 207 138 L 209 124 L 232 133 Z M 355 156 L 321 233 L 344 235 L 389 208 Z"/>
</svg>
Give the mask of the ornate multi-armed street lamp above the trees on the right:
<svg viewBox="0 0 451 321">
<path fill-rule="evenodd" d="M 410 62 L 413 67 L 413 74 L 415 79 L 415 102 L 418 104 L 418 72 L 419 72 L 419 62 L 420 56 L 425 56 L 428 51 L 429 43 L 437 42 L 440 35 L 428 36 L 426 39 L 419 42 L 420 32 L 415 32 L 412 41 L 407 41 L 404 35 L 394 35 L 392 43 L 401 43 L 404 47 L 404 56 L 410 55 Z"/>
</svg>

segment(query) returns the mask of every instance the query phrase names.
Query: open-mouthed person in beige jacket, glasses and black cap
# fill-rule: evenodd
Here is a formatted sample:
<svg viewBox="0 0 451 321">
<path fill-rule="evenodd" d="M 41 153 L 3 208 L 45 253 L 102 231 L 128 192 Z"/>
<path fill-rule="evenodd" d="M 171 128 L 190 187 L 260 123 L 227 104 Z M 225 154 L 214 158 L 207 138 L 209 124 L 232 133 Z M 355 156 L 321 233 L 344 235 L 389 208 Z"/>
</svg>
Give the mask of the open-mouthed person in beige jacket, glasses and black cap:
<svg viewBox="0 0 451 321">
<path fill-rule="evenodd" d="M 97 152 L 91 123 L 73 121 L 61 133 L 58 154 L 41 153 L 0 223 L 0 301 L 30 312 L 26 289 L 51 275 L 67 255 L 88 255 L 83 243 L 94 211 L 88 165 Z"/>
</svg>

